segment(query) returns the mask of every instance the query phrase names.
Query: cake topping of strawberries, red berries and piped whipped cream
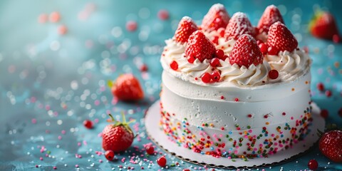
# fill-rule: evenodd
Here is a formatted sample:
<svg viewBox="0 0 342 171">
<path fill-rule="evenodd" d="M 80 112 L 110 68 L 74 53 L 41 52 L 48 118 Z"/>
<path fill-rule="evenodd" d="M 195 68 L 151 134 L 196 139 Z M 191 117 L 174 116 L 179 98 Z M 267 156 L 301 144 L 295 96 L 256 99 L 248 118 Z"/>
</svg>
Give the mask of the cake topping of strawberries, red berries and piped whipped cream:
<svg viewBox="0 0 342 171">
<path fill-rule="evenodd" d="M 222 4 L 214 4 L 200 26 L 183 17 L 160 61 L 184 81 L 223 87 L 294 81 L 309 72 L 311 63 L 276 6 L 267 6 L 254 27 L 242 12 L 230 18 Z"/>
</svg>

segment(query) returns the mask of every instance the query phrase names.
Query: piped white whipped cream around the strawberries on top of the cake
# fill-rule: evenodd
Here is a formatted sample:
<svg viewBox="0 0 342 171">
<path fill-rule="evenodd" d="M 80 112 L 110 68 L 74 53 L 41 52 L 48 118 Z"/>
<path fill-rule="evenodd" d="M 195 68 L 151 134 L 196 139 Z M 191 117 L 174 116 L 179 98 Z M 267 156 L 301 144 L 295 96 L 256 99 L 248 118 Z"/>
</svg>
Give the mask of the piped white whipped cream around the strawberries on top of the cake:
<svg viewBox="0 0 342 171">
<path fill-rule="evenodd" d="M 212 36 L 217 33 L 212 31 L 207 34 Z M 200 77 L 203 73 L 212 73 L 213 68 L 209 64 L 210 60 L 205 59 L 201 62 L 196 59 L 194 63 L 189 63 L 184 53 L 186 43 L 177 43 L 172 39 L 168 39 L 165 43 L 165 51 L 163 52 L 162 58 L 160 58 L 164 70 L 184 81 L 208 86 L 208 84 L 200 80 Z M 227 41 L 225 38 L 219 38 L 219 44 L 216 48 L 224 49 L 224 53 L 229 55 L 234 43 L 234 39 Z M 172 61 L 178 63 L 177 71 L 170 68 Z M 217 67 L 221 71 L 221 80 L 219 83 L 211 83 L 210 85 L 246 87 L 293 81 L 308 71 L 310 63 L 309 56 L 304 51 L 297 50 L 291 53 L 288 51 L 279 52 L 278 56 L 266 55 L 264 56 L 264 63 L 258 66 L 252 64 L 249 68 L 245 66 L 239 67 L 237 64 L 231 65 L 229 58 L 227 58 L 226 61 L 220 60 L 221 66 Z M 279 77 L 276 80 L 268 78 L 268 73 L 271 69 L 279 71 Z"/>
</svg>

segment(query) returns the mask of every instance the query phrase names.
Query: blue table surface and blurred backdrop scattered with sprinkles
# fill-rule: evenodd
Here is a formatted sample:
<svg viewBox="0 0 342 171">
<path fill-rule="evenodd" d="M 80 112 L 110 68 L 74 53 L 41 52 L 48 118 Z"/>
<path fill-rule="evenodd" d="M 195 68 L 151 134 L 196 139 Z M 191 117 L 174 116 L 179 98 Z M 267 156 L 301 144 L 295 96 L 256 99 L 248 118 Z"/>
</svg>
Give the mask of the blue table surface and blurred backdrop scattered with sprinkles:
<svg viewBox="0 0 342 171">
<path fill-rule="evenodd" d="M 266 6 L 278 6 L 299 46 L 309 47 L 314 61 L 312 99 L 328 110 L 328 123 L 342 125 L 342 44 L 314 38 L 307 29 L 314 9 L 321 8 L 331 11 L 342 33 L 341 1 L 8 0 L 0 2 L 0 170 L 161 170 L 155 160 L 162 155 L 168 170 L 209 170 L 158 147 L 157 155 L 146 155 L 142 149 L 152 142 L 143 115 L 159 98 L 164 40 L 173 36 L 182 16 L 200 24 L 217 2 L 231 16 L 247 13 L 254 25 Z M 170 18 L 159 19 L 160 9 L 166 9 Z M 38 16 L 53 11 L 61 16 L 58 22 L 38 22 Z M 138 29 L 127 31 L 128 21 L 136 21 Z M 58 34 L 60 26 L 66 26 L 66 34 Z M 145 73 L 139 70 L 142 63 L 148 66 Z M 144 100 L 123 103 L 113 98 L 106 82 L 122 73 L 138 77 Z M 318 82 L 331 90 L 330 98 L 317 90 Z M 108 124 L 107 113 L 120 119 L 121 111 L 136 120 L 132 127 L 138 137 L 127 152 L 108 162 L 100 153 L 99 133 Z M 93 120 L 95 128 L 86 129 L 86 119 Z M 318 160 L 318 170 L 342 170 L 318 147 L 291 162 L 259 170 L 308 170 L 311 159 Z"/>
</svg>

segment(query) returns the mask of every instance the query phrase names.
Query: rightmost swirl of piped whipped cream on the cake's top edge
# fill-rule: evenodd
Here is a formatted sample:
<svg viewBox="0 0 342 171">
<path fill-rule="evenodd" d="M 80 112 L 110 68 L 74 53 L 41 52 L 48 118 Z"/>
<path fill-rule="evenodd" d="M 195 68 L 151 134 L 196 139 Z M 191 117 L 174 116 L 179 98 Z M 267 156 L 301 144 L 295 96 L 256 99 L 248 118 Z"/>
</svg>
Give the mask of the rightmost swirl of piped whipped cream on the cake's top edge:
<svg viewBox="0 0 342 171">
<path fill-rule="evenodd" d="M 265 60 L 268 61 L 271 68 L 279 71 L 281 81 L 291 81 L 304 74 L 311 63 L 307 53 L 301 50 L 281 51 L 278 56 L 266 55 Z"/>
</svg>

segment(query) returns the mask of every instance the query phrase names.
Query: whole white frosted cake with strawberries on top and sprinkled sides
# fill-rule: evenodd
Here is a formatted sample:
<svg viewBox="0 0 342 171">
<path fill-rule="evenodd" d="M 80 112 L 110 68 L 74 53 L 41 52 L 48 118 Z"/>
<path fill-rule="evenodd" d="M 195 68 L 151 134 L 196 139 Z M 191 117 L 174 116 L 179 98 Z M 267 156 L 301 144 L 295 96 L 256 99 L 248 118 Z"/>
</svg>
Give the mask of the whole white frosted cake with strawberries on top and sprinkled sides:
<svg viewBox="0 0 342 171">
<path fill-rule="evenodd" d="M 160 62 L 160 128 L 202 155 L 269 157 L 305 140 L 312 125 L 311 59 L 279 9 L 259 24 L 214 4 L 197 26 L 185 16 Z"/>
</svg>

